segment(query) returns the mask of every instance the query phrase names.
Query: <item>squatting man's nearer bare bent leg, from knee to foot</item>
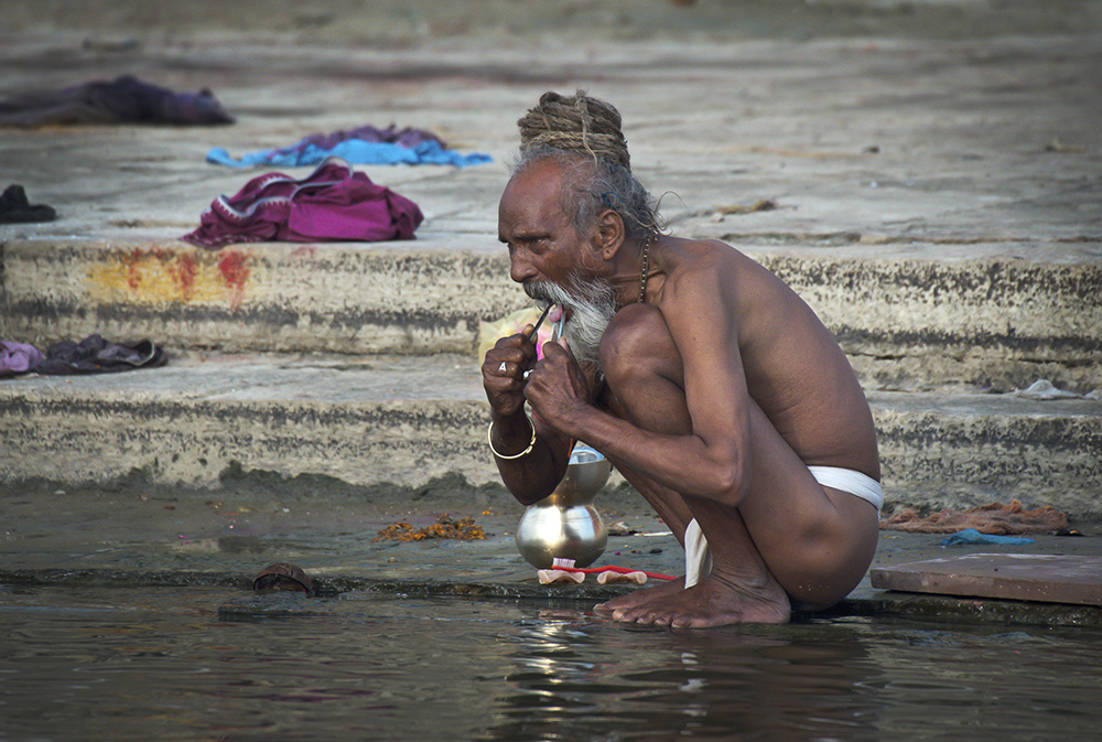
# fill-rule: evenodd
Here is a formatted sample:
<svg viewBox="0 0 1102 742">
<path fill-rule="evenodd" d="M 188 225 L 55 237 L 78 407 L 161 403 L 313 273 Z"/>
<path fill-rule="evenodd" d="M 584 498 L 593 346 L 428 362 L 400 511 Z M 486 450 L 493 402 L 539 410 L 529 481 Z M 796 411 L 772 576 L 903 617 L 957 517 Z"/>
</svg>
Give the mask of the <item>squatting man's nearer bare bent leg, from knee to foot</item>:
<svg viewBox="0 0 1102 742">
<path fill-rule="evenodd" d="M 681 357 L 656 309 L 631 305 L 616 315 L 602 343 L 602 367 L 614 413 L 656 432 L 691 432 Z M 714 566 L 712 578 L 680 594 L 647 591 L 655 600 L 637 593 L 603 609 L 625 621 L 674 625 L 782 621 L 788 602 L 779 594 L 825 606 L 860 581 L 875 550 L 875 509 L 819 486 L 756 405 L 750 422 L 750 494 L 737 509 L 681 497 L 618 466 L 662 517 L 671 514 L 679 539 L 696 518 Z"/>
</svg>

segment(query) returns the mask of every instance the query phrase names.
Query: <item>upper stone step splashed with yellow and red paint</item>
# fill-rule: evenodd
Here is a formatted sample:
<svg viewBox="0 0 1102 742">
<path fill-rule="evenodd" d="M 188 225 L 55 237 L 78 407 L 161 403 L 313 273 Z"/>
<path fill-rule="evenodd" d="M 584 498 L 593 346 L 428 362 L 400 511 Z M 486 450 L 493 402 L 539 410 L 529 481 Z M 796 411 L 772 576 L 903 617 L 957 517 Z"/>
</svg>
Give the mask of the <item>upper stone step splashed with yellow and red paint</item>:
<svg viewBox="0 0 1102 742">
<path fill-rule="evenodd" d="M 811 304 L 866 388 L 1102 386 L 1102 261 L 969 248 L 986 257 L 739 245 Z M 530 304 L 487 235 L 218 251 L 11 240 L 0 264 L 0 336 L 39 344 L 98 332 L 229 352 L 471 353 L 480 320 Z"/>
</svg>

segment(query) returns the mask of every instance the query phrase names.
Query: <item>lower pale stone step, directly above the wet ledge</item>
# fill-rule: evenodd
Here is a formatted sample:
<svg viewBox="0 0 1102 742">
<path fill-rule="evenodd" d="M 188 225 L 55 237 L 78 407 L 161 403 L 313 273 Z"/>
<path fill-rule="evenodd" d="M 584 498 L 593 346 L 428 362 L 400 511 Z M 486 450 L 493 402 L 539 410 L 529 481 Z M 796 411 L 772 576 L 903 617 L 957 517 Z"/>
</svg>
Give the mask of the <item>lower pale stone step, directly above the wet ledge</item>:
<svg viewBox="0 0 1102 742">
<path fill-rule="evenodd" d="M 884 391 L 869 400 L 889 505 L 1018 498 L 1102 517 L 1102 402 Z M 225 478 L 235 472 L 273 474 L 303 495 L 322 481 L 417 488 L 461 475 L 483 485 L 497 482 L 487 419 L 463 355 L 191 357 L 20 378 L 0 383 L 0 485 L 214 491 L 235 486 Z"/>
</svg>

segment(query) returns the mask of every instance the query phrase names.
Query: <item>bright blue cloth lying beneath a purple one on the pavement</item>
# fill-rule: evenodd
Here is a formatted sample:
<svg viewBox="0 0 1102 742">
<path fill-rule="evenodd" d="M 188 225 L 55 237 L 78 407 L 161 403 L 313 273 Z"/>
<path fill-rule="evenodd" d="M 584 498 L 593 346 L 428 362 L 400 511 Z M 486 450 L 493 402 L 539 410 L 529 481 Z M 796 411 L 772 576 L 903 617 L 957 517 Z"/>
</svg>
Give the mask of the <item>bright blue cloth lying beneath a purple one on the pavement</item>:
<svg viewBox="0 0 1102 742">
<path fill-rule="evenodd" d="M 337 157 L 350 164 L 360 165 L 434 164 L 466 168 L 493 162 L 493 158 L 488 154 L 480 152 L 461 154 L 455 150 L 444 149 L 435 141 L 421 142 L 411 148 L 391 142 L 369 142 L 364 139 L 346 139 L 328 149 L 311 143 L 302 148 L 261 150 L 244 154 L 239 160 L 235 160 L 229 157 L 229 152 L 216 147 L 207 152 L 207 162 L 230 168 L 253 165 L 303 168 L 316 165 L 328 157 Z"/>
</svg>

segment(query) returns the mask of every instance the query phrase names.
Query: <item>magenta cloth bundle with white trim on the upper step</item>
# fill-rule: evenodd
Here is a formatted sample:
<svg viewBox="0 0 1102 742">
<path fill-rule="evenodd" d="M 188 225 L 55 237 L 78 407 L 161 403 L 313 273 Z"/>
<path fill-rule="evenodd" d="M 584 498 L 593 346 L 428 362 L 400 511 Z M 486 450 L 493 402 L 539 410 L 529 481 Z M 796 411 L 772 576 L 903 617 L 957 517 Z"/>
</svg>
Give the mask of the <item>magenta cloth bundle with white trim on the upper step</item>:
<svg viewBox="0 0 1102 742">
<path fill-rule="evenodd" d="M 219 196 L 199 227 L 181 239 L 215 249 L 230 243 L 412 239 L 423 218 L 409 198 L 328 158 L 301 180 L 268 173 L 228 198 Z"/>
</svg>

